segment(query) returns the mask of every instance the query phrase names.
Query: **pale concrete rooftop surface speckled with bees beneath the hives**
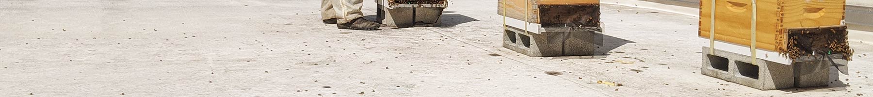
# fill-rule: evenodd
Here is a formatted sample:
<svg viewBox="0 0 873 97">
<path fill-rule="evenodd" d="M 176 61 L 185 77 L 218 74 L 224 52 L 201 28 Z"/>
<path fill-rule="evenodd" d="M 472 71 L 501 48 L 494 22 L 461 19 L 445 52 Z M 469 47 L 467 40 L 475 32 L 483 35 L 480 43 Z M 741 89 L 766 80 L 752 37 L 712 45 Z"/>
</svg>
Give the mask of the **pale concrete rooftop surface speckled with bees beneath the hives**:
<svg viewBox="0 0 873 97">
<path fill-rule="evenodd" d="M 321 24 L 320 2 L 2 0 L 0 95 L 873 96 L 864 41 L 828 87 L 761 91 L 700 73 L 698 17 L 635 3 L 601 5 L 608 55 L 531 58 L 501 46 L 497 0 L 451 0 L 442 27 L 381 31 Z M 373 20 L 374 1 L 363 8 Z"/>
</svg>

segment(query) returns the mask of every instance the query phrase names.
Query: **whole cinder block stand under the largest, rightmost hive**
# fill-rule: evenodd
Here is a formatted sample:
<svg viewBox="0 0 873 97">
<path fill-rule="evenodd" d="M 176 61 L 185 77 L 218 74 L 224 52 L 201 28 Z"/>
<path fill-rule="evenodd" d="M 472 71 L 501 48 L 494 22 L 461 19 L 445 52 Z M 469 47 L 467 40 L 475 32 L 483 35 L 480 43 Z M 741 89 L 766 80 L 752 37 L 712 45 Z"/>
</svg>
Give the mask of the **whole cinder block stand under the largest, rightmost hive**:
<svg viewBox="0 0 873 97">
<path fill-rule="evenodd" d="M 750 64 L 751 57 L 734 52 L 714 49 L 710 54 L 709 47 L 703 47 L 702 55 L 702 74 L 760 90 L 828 86 L 832 67 L 823 56 L 792 59 L 791 65 L 758 59 L 756 66 Z M 843 55 L 829 56 L 838 64 L 848 63 Z"/>
</svg>

